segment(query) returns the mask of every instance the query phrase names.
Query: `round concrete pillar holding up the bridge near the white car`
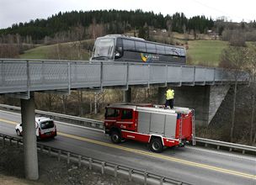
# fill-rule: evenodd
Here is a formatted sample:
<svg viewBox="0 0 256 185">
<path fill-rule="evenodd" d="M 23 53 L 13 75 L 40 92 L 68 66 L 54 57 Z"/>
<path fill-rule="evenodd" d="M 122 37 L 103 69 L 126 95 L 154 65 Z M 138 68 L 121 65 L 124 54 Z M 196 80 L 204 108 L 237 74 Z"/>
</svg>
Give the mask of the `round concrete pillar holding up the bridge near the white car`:
<svg viewBox="0 0 256 185">
<path fill-rule="evenodd" d="M 30 93 L 29 99 L 21 99 L 21 119 L 23 124 L 24 140 L 24 171 L 25 177 L 29 180 L 37 180 L 38 158 L 35 135 L 35 98 Z"/>
</svg>

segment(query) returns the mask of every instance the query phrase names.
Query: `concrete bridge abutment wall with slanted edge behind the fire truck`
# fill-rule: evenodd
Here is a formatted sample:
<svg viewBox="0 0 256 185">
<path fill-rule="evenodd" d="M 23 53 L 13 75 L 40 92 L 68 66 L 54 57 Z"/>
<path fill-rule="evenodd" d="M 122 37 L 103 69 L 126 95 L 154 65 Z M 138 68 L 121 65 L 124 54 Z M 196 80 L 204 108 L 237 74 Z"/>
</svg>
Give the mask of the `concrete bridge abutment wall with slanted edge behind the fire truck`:
<svg viewBox="0 0 256 185">
<path fill-rule="evenodd" d="M 175 92 L 174 107 L 195 109 L 195 123 L 207 125 L 221 106 L 229 90 L 228 85 L 172 87 Z M 158 103 L 165 103 L 167 87 L 158 87 Z"/>
</svg>

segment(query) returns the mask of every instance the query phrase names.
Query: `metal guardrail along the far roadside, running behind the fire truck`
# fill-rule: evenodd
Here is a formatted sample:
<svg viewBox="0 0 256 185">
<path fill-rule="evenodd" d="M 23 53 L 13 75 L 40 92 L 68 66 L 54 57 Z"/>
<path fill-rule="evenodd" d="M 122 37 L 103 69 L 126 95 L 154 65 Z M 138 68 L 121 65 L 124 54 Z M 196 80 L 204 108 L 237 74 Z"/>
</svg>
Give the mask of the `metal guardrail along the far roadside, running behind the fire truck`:
<svg viewBox="0 0 256 185">
<path fill-rule="evenodd" d="M 13 110 L 20 110 L 19 107 L 10 106 L 6 104 L 0 104 L 0 108 L 6 108 L 6 109 L 13 109 Z M 104 130 L 104 124 L 103 121 L 94 120 L 94 119 L 85 119 L 81 117 L 71 116 L 67 114 L 56 114 L 51 112 L 45 112 L 41 110 L 35 110 L 36 114 L 45 115 L 47 117 L 51 117 L 56 120 L 64 120 L 68 121 L 72 124 L 79 124 L 83 126 L 88 126 L 95 129 L 101 129 Z M 256 155 L 256 147 L 249 146 L 249 145 L 239 145 L 229 142 L 224 142 L 220 140 L 209 140 L 205 138 L 195 137 L 195 141 L 197 145 L 204 145 L 205 147 L 214 147 L 217 150 L 223 150 L 223 151 L 241 151 L 243 154 L 250 154 L 250 155 Z"/>
</svg>

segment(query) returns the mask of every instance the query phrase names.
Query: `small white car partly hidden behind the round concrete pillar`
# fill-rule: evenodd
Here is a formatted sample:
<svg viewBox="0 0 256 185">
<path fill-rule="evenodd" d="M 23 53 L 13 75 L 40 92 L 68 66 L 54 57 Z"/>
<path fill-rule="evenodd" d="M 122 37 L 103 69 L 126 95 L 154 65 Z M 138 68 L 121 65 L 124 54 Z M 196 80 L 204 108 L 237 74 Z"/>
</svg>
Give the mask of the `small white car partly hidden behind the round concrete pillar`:
<svg viewBox="0 0 256 185">
<path fill-rule="evenodd" d="M 22 136 L 22 124 L 15 127 L 16 134 Z M 35 135 L 38 139 L 54 138 L 57 135 L 56 124 L 53 119 L 45 117 L 35 118 Z"/>
</svg>

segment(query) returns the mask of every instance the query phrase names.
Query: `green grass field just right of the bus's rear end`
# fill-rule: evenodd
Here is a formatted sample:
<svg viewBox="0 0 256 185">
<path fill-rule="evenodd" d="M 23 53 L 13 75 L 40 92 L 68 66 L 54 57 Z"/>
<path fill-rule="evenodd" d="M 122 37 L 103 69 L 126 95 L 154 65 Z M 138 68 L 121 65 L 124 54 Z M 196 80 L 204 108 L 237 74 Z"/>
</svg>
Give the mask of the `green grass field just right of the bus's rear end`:
<svg viewBox="0 0 256 185">
<path fill-rule="evenodd" d="M 193 65 L 218 66 L 221 51 L 228 43 L 221 40 L 191 40 L 189 41 L 189 63 Z"/>
</svg>

